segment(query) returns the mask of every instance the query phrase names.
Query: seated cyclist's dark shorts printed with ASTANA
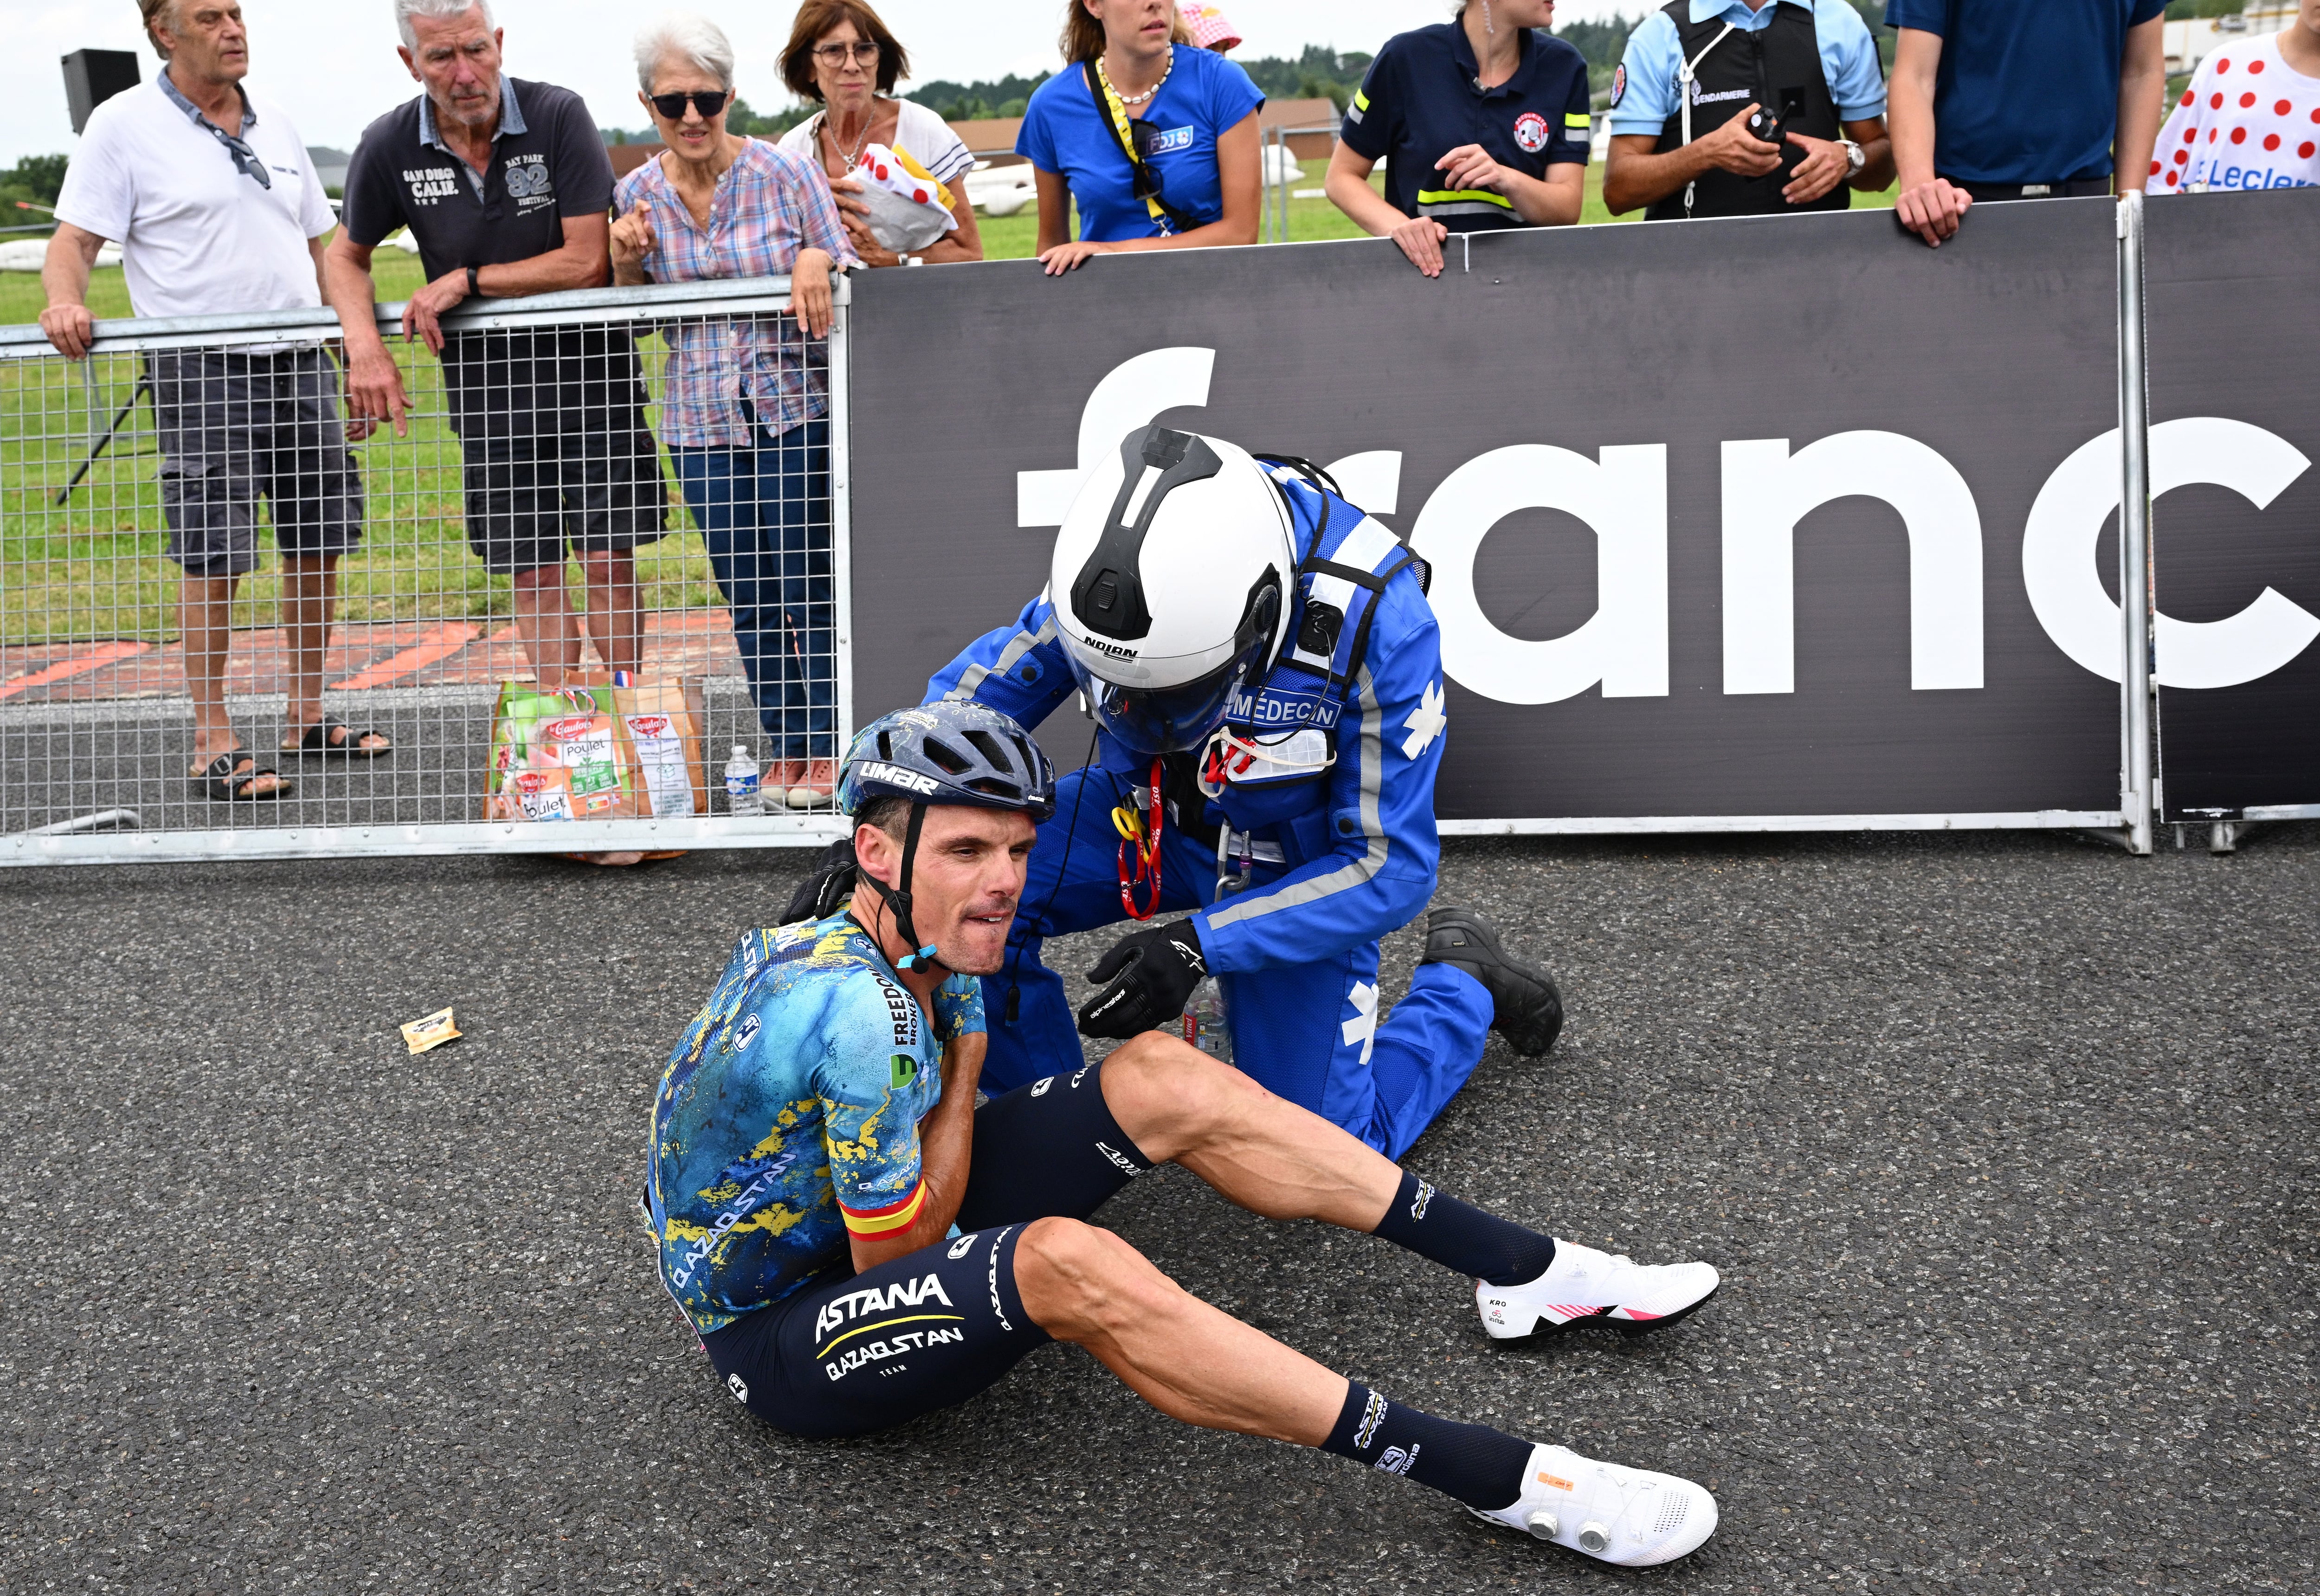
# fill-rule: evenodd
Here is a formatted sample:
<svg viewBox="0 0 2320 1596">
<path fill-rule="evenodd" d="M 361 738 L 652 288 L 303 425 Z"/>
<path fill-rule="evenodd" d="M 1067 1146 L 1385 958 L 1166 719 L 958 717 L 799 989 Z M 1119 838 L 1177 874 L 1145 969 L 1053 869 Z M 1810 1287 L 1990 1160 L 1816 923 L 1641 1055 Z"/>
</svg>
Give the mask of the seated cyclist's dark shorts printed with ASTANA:
<svg viewBox="0 0 2320 1596">
<path fill-rule="evenodd" d="M 1049 1341 L 1014 1285 L 1023 1227 L 1083 1220 L 1148 1167 L 1104 1107 L 1102 1065 L 1018 1086 L 974 1111 L 956 1239 L 868 1274 L 840 1262 L 701 1345 L 735 1401 L 793 1436 L 958 1406 Z"/>
</svg>

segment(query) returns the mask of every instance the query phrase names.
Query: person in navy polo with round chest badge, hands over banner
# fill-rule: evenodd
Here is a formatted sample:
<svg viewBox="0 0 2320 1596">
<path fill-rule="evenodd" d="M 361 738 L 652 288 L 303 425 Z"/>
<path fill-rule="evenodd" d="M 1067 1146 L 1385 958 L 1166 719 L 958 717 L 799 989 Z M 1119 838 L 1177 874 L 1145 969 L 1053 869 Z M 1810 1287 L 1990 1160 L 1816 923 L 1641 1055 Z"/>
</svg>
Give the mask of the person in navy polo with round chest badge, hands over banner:
<svg viewBox="0 0 2320 1596">
<path fill-rule="evenodd" d="M 1427 276 L 1452 232 L 1575 223 L 1587 60 L 1536 32 L 1552 21 L 1554 0 L 1466 0 L 1457 21 L 1387 39 L 1329 153 L 1336 209 Z M 1380 160 L 1385 197 L 1369 186 Z"/>
</svg>

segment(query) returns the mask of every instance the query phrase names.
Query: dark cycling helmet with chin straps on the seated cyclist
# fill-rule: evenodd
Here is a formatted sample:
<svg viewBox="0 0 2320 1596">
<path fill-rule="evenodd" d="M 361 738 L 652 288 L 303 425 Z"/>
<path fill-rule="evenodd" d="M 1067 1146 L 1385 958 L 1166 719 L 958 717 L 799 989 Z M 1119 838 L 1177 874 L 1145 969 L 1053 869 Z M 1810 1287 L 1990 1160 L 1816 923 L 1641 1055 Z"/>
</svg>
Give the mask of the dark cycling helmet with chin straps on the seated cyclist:
<svg viewBox="0 0 2320 1596">
<path fill-rule="evenodd" d="M 909 902 L 926 810 L 1016 810 L 1039 824 L 1056 812 L 1056 768 L 1012 717 L 967 701 L 928 703 L 882 714 L 854 735 L 838 782 L 838 807 L 861 817 L 879 798 L 909 800 L 900 879 L 886 886 L 868 870 L 856 870 L 856 884 L 886 902 L 896 930 L 912 946 L 896 970 L 928 967 L 937 963 L 935 944 L 919 942 Z"/>
</svg>

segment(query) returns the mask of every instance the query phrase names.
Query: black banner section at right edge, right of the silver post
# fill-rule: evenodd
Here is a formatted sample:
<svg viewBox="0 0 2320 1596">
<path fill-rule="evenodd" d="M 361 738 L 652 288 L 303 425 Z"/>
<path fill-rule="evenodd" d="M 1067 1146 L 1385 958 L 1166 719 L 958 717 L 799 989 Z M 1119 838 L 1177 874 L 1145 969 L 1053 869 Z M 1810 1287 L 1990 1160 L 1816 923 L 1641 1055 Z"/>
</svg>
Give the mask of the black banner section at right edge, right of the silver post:
<svg viewBox="0 0 2320 1596">
<path fill-rule="evenodd" d="M 2144 209 L 2160 817 L 2320 805 L 2320 190 Z"/>
</svg>

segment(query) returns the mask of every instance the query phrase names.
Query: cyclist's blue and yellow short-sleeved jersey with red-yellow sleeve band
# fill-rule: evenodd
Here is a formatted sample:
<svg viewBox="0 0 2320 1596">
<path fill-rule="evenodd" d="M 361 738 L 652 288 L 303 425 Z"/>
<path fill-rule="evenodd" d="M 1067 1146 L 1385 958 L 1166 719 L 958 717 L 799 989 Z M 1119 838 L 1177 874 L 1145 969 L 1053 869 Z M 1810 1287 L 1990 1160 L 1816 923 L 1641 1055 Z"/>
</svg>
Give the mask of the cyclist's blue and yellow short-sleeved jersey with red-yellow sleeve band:
<svg viewBox="0 0 2320 1596">
<path fill-rule="evenodd" d="M 928 1025 L 847 914 L 740 940 L 652 1104 L 645 1211 L 694 1329 L 780 1301 L 847 1255 L 847 1232 L 919 1218 L 942 1049 L 981 1028 L 972 977 L 935 991 Z"/>
</svg>

